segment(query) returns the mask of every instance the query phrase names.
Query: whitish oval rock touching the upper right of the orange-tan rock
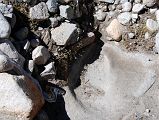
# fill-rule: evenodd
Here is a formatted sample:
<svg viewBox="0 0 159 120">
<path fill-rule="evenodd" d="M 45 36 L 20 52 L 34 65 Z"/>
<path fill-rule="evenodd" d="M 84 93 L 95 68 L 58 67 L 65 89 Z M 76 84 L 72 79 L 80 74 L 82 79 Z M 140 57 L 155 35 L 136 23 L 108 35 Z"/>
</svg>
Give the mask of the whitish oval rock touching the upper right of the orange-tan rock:
<svg viewBox="0 0 159 120">
<path fill-rule="evenodd" d="M 131 18 L 130 12 L 123 12 L 117 17 L 118 21 L 123 25 L 127 25 L 131 21 Z"/>
</svg>

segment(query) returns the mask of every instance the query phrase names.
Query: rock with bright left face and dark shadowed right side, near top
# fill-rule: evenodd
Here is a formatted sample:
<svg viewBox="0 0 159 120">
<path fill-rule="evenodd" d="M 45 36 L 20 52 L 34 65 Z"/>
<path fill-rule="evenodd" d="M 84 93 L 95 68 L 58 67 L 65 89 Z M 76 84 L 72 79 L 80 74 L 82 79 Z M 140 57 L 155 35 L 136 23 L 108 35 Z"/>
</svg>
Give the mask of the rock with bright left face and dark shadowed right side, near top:
<svg viewBox="0 0 159 120">
<path fill-rule="evenodd" d="M 69 5 L 60 5 L 60 15 L 66 19 L 74 19 L 75 13 L 71 6 Z"/>
</svg>

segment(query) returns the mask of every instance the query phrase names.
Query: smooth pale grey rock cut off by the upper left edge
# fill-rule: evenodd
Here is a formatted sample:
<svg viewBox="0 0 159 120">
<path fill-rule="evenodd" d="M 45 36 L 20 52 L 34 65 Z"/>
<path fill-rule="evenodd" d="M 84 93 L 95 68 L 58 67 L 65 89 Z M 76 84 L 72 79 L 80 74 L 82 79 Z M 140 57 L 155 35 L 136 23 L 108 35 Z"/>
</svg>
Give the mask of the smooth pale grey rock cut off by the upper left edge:
<svg viewBox="0 0 159 120">
<path fill-rule="evenodd" d="M 11 27 L 2 13 L 0 13 L 0 26 L 0 38 L 8 38 L 11 33 Z"/>
</svg>

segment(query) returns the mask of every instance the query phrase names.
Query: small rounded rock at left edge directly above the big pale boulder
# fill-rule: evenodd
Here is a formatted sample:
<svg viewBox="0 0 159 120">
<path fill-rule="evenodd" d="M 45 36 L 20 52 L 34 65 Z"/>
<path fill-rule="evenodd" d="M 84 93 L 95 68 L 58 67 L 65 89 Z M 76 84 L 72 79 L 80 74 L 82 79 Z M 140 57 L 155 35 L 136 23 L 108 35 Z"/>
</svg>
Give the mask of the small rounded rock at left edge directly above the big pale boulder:
<svg viewBox="0 0 159 120">
<path fill-rule="evenodd" d="M 0 54 L 0 73 L 12 70 L 14 65 L 5 55 Z"/>
</svg>

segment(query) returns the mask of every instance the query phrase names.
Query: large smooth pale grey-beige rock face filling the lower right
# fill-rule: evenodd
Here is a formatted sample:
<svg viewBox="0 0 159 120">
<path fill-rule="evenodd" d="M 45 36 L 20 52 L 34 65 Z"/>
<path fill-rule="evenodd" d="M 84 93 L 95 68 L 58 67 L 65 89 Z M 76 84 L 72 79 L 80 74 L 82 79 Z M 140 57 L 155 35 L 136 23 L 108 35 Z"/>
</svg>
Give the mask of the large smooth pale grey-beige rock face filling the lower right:
<svg viewBox="0 0 159 120">
<path fill-rule="evenodd" d="M 99 59 L 85 67 L 76 98 L 66 88 L 71 120 L 140 120 L 136 114 L 158 120 L 158 56 L 127 53 L 110 44 L 103 48 Z M 147 108 L 153 117 L 143 114 Z"/>
</svg>

